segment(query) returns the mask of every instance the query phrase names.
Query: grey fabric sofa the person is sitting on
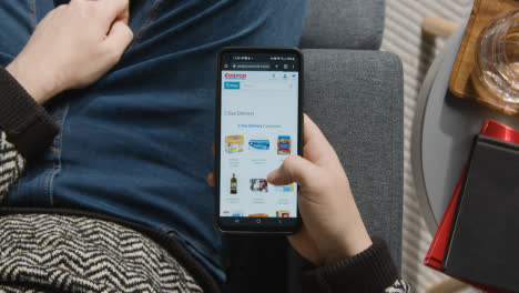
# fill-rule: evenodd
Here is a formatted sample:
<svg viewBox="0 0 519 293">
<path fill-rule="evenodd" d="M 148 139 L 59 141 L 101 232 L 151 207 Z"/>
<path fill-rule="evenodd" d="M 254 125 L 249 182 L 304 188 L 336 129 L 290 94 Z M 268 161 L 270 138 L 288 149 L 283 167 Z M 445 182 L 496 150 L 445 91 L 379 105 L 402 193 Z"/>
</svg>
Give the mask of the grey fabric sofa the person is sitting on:
<svg viewBox="0 0 519 293">
<path fill-rule="evenodd" d="M 309 0 L 299 47 L 304 111 L 335 146 L 368 232 L 387 241 L 400 267 L 403 71 L 398 57 L 378 51 L 384 10 L 384 0 Z M 230 292 L 302 291 L 308 263 L 286 241 L 241 241 L 242 265 L 231 275 L 241 285 Z"/>
</svg>

